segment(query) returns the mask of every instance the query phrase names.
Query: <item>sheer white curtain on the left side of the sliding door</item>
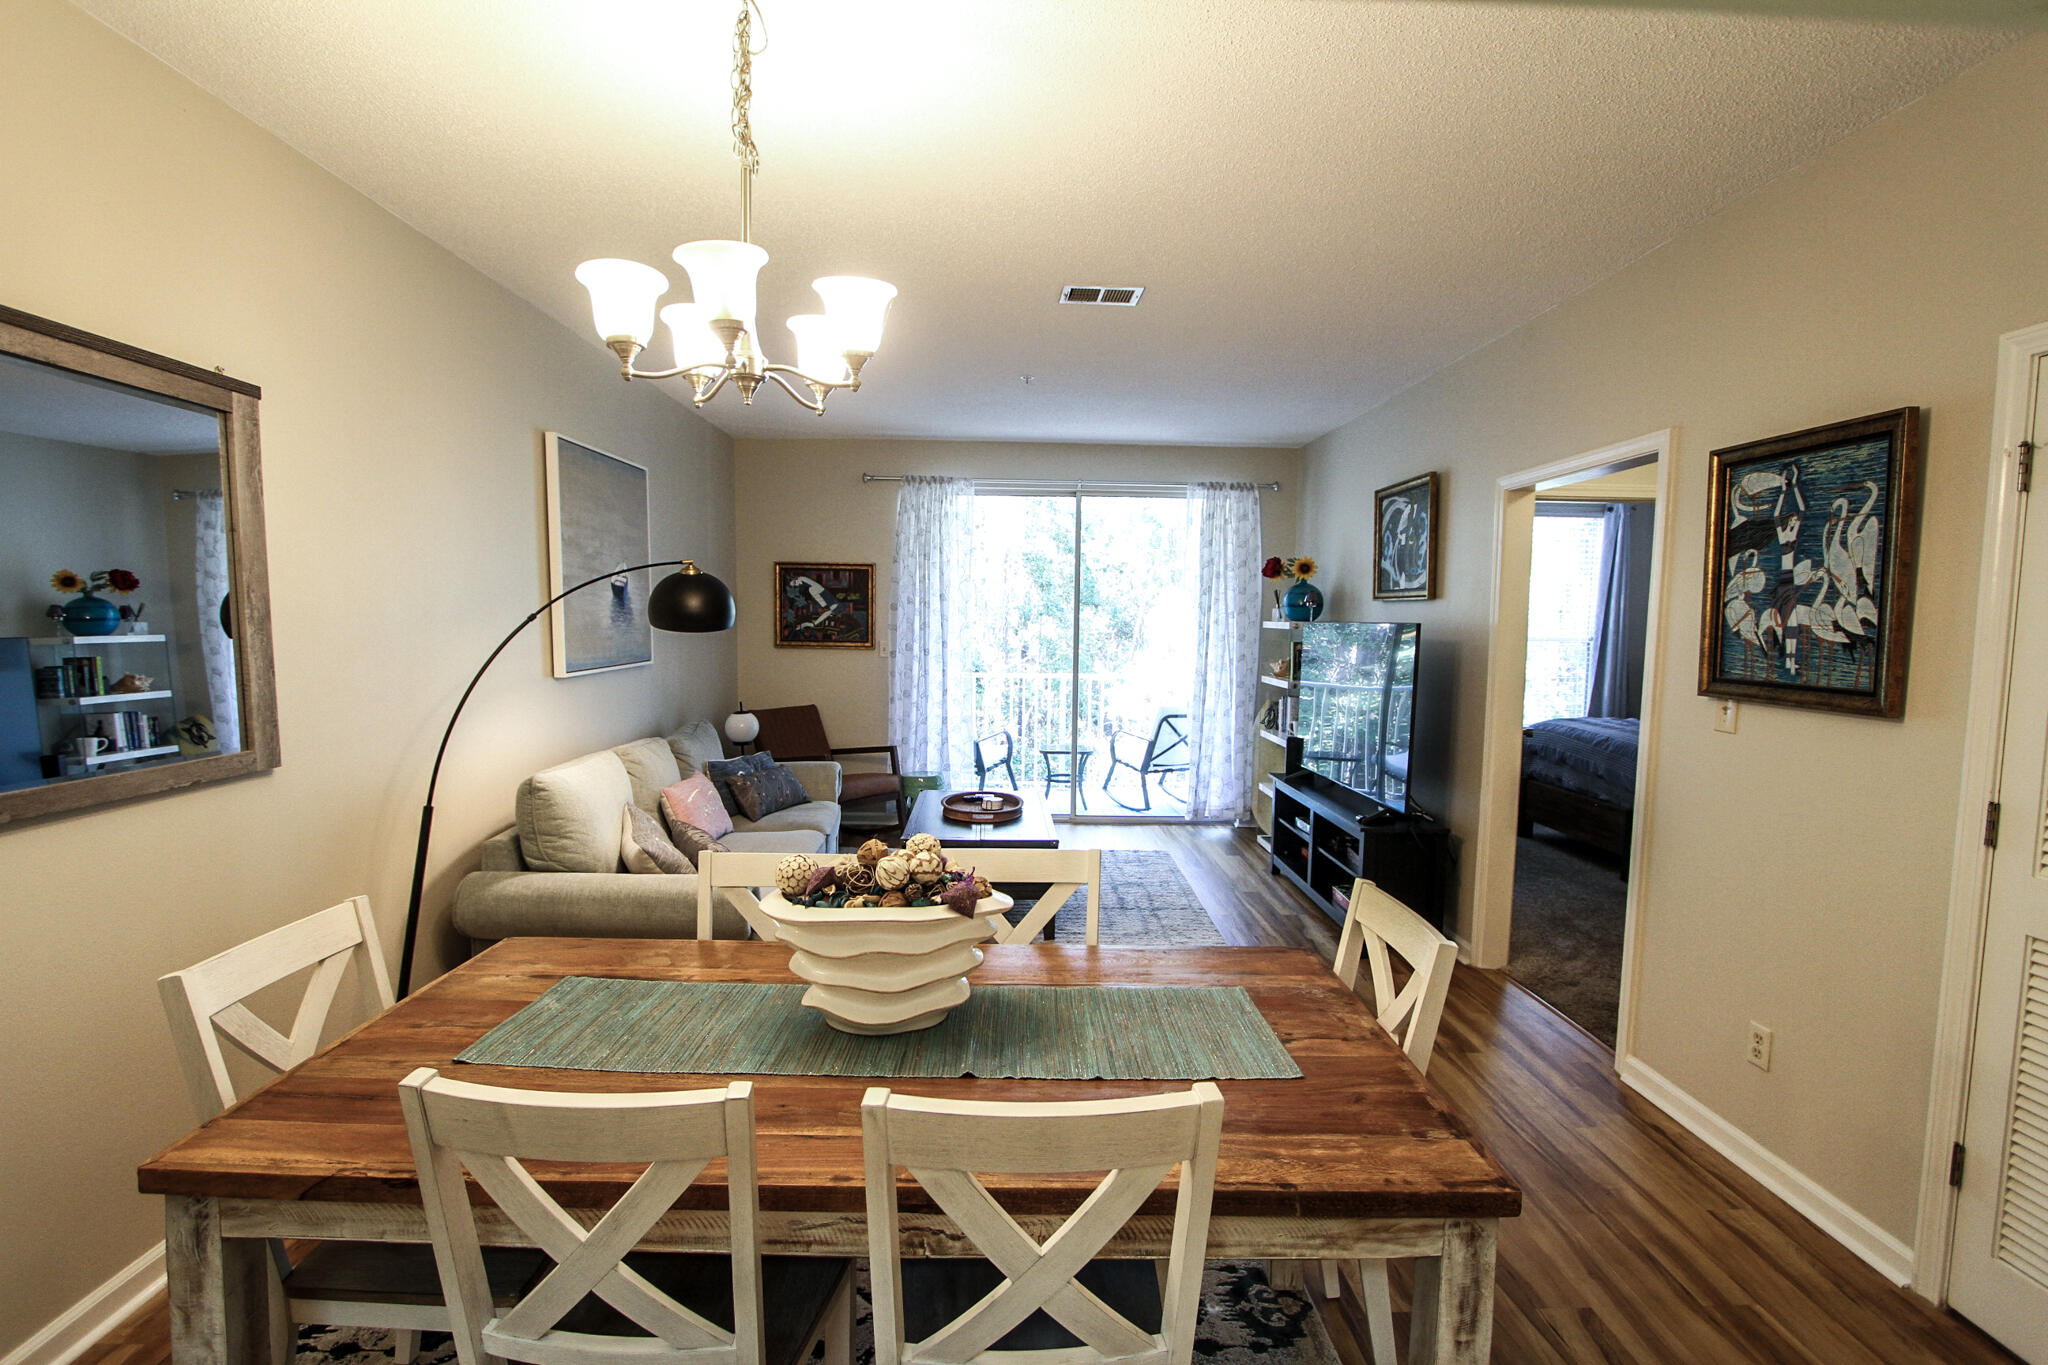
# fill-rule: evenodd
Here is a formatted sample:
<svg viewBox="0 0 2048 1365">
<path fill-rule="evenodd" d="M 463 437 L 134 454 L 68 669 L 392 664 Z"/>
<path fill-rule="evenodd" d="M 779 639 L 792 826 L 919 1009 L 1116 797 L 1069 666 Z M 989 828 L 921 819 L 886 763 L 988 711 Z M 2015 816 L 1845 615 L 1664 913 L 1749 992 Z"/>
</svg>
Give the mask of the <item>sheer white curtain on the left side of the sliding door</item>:
<svg viewBox="0 0 2048 1365">
<path fill-rule="evenodd" d="M 889 593 L 889 739 L 905 772 L 973 772 L 975 483 L 909 475 L 897 491 Z"/>
</svg>

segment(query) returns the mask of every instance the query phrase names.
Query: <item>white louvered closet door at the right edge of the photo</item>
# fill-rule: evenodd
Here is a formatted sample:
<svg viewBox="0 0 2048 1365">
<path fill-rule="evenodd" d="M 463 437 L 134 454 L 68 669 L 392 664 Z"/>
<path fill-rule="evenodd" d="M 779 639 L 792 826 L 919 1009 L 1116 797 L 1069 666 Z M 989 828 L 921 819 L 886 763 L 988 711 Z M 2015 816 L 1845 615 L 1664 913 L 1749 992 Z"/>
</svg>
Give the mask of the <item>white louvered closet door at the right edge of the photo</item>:
<svg viewBox="0 0 2048 1365">
<path fill-rule="evenodd" d="M 2048 362 L 2034 385 L 2040 442 Z M 2028 501 L 1950 1304 L 2048 1365 L 2048 503 Z"/>
</svg>

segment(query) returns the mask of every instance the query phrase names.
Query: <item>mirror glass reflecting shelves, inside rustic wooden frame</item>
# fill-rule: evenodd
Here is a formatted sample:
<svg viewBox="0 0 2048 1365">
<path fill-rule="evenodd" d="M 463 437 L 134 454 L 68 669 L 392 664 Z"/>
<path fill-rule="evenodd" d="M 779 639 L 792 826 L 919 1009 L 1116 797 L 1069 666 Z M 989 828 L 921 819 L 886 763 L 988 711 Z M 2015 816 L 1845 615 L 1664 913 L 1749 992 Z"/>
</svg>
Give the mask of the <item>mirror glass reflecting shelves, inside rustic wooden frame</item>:
<svg viewBox="0 0 2048 1365">
<path fill-rule="evenodd" d="M 242 749 L 221 413 L 0 356 L 0 792 Z"/>
</svg>

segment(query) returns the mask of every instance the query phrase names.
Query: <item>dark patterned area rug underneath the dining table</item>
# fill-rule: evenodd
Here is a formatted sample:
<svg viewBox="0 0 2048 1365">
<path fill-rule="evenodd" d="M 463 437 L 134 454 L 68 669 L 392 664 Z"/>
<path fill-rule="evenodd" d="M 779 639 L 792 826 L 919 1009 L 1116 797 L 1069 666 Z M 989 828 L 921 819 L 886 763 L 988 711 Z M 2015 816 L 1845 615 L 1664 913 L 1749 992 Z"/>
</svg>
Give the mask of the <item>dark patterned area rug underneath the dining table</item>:
<svg viewBox="0 0 2048 1365">
<path fill-rule="evenodd" d="M 874 1365 L 874 1308 L 868 1273 L 858 1271 L 854 1302 L 854 1365 Z M 375 1328 L 303 1328 L 297 1365 L 389 1357 L 391 1334 Z M 422 1365 L 446 1365 L 455 1342 L 426 1332 Z M 817 1359 L 813 1355 L 813 1359 Z M 1253 1261 L 1210 1261 L 1202 1271 L 1202 1316 L 1194 1328 L 1194 1359 L 1204 1365 L 1337 1365 L 1337 1349 L 1315 1306 L 1300 1293 L 1276 1291 Z"/>
</svg>

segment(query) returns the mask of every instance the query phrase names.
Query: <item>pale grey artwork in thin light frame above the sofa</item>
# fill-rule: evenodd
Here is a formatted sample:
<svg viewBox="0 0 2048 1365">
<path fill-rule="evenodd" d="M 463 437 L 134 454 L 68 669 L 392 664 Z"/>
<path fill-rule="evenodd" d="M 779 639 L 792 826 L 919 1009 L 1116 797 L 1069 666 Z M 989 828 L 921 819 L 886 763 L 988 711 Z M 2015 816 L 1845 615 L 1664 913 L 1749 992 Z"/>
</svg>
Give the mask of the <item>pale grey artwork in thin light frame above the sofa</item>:
<svg viewBox="0 0 2048 1365">
<path fill-rule="evenodd" d="M 612 573 L 549 610 L 555 677 L 653 661 L 647 624 L 647 471 L 561 432 L 547 432 L 549 596 Z"/>
</svg>

